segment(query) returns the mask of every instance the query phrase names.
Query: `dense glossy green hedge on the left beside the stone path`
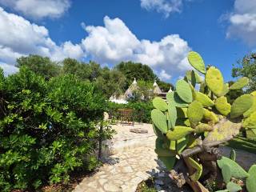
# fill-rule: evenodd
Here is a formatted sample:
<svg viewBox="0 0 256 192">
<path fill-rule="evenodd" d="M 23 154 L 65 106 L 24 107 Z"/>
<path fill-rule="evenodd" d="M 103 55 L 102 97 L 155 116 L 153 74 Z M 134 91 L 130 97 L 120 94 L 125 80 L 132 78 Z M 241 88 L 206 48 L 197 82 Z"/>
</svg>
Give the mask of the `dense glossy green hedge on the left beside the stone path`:
<svg viewBox="0 0 256 192">
<path fill-rule="evenodd" d="M 0 68 L 0 191 L 68 181 L 73 170 L 93 169 L 104 110 L 106 98 L 74 75 L 48 82 L 22 67 L 4 78 Z"/>
</svg>

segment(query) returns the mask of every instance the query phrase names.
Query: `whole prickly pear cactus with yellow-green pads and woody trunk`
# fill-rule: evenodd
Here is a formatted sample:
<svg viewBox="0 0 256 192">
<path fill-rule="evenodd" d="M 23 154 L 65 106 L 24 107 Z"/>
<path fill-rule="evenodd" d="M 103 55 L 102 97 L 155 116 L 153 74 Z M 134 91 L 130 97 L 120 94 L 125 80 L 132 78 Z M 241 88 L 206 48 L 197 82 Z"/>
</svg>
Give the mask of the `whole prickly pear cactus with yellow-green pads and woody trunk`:
<svg viewBox="0 0 256 192">
<path fill-rule="evenodd" d="M 194 70 L 188 71 L 185 78 L 176 83 L 174 92 L 166 94 L 166 101 L 162 98 L 153 100 L 155 109 L 151 118 L 158 136 L 155 151 L 172 174 L 186 167 L 186 172 L 182 172 L 183 178 L 194 191 L 208 191 L 200 180 L 204 169 L 212 174 L 208 174 L 211 179 L 217 177 L 217 159 L 221 156 L 216 147 L 234 138 L 242 127 L 256 133 L 256 92 L 242 95 L 231 105 L 225 95 L 229 90 L 242 89 L 249 79 L 240 78 L 229 86 L 220 70 L 214 66 L 206 68 L 200 54 L 190 52 L 188 61 Z M 247 177 L 236 164 L 231 162 L 230 165 L 236 167 L 233 170 L 226 162 L 225 158 L 218 162 L 220 168 L 228 171 L 225 174 L 226 184 L 230 182 L 229 177 L 237 177 L 238 174 Z M 182 168 L 176 169 L 180 165 Z M 173 178 L 179 177 L 177 173 Z"/>
</svg>

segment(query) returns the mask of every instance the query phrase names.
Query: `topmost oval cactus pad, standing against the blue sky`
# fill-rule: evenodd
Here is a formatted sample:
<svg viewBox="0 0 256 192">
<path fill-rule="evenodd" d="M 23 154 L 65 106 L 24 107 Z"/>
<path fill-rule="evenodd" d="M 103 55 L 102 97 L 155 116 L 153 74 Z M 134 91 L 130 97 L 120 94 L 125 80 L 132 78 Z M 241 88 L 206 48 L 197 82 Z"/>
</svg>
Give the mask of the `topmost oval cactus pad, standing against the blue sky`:
<svg viewBox="0 0 256 192">
<path fill-rule="evenodd" d="M 206 66 L 200 54 L 194 51 L 190 51 L 187 58 L 190 62 L 190 65 L 193 66 L 194 69 L 198 70 L 202 74 L 206 74 Z"/>
</svg>

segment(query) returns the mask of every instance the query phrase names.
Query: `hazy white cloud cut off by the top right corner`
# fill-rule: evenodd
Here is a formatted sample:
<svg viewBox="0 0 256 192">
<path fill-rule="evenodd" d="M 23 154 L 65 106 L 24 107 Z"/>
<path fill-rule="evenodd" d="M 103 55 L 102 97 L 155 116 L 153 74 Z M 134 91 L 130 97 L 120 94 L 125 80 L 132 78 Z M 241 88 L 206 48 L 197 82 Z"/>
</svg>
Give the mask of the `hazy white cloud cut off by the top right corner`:
<svg viewBox="0 0 256 192">
<path fill-rule="evenodd" d="M 250 46 L 256 45 L 256 1 L 235 0 L 234 11 L 227 16 L 230 23 L 226 36 L 241 38 Z"/>
</svg>

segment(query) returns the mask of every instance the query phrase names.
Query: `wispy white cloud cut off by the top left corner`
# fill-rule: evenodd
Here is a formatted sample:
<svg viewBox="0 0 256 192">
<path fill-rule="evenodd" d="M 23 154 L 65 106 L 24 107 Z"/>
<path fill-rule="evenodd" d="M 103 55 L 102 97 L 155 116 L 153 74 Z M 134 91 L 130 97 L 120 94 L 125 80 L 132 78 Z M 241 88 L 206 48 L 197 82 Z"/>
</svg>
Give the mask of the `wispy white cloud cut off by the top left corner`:
<svg viewBox="0 0 256 192">
<path fill-rule="evenodd" d="M 59 18 L 70 8 L 70 0 L 0 0 L 9 7 L 29 18 Z"/>
</svg>

